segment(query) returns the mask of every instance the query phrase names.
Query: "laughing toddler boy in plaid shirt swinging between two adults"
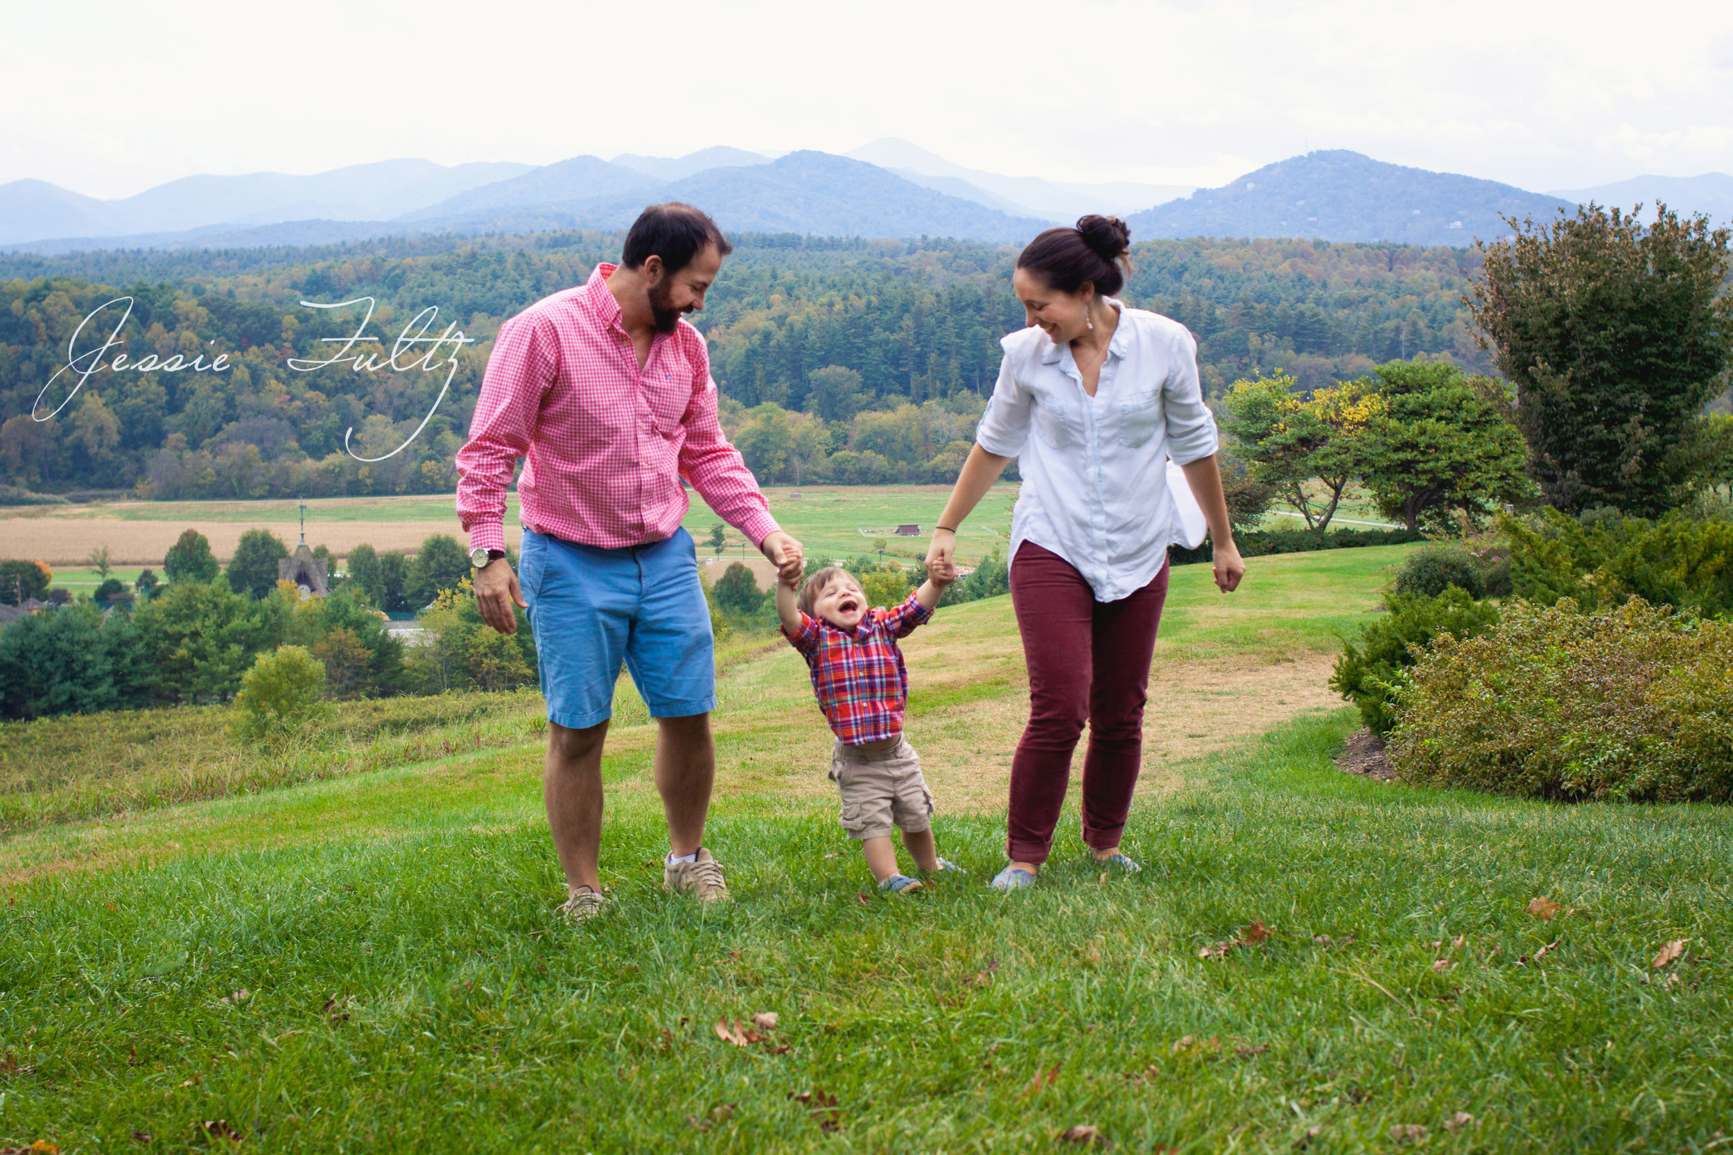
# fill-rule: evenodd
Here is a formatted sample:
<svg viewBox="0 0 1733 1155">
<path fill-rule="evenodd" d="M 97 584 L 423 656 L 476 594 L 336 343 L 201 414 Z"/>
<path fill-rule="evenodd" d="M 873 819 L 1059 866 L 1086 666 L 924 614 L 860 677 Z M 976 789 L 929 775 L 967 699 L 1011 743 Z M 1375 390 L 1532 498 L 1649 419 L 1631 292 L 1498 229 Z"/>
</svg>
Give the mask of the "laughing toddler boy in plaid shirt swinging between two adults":
<svg viewBox="0 0 1733 1155">
<path fill-rule="evenodd" d="M 799 594 L 776 582 L 782 632 L 813 672 L 818 708 L 837 736 L 830 779 L 842 795 L 842 829 L 861 843 L 879 890 L 908 894 L 920 883 L 896 868 L 891 828 L 924 873 L 962 868 L 932 845 L 932 791 L 920 755 L 903 738 L 908 670 L 896 639 L 932 616 L 939 594 L 957 580 L 950 561 L 927 565 L 927 580 L 894 610 L 870 608 L 861 584 L 827 566 Z"/>
</svg>

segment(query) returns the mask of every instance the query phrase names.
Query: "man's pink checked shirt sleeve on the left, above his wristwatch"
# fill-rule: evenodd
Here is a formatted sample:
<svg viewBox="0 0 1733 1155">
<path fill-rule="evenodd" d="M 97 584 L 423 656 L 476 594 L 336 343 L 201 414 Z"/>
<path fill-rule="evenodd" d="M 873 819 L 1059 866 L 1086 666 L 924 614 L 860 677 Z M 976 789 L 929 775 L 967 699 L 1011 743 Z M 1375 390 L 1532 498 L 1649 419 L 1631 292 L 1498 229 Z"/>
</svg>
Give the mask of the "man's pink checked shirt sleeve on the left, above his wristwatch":
<svg viewBox="0 0 1733 1155">
<path fill-rule="evenodd" d="M 471 547 L 506 547 L 511 469 L 530 452 L 542 397 L 558 372 L 560 339 L 551 324 L 513 317 L 499 327 L 470 417 L 470 440 L 458 450 L 458 516 Z"/>
</svg>

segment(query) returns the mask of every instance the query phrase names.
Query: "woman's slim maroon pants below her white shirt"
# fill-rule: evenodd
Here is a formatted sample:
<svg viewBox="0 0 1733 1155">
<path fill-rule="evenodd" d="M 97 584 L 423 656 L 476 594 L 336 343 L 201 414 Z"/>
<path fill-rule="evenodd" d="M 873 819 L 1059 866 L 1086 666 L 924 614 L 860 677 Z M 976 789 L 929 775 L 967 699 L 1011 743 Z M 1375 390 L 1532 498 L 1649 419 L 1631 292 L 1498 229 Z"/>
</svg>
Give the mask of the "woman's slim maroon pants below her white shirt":
<svg viewBox="0 0 1733 1155">
<path fill-rule="evenodd" d="M 1010 566 L 1010 604 L 1029 665 L 1029 726 L 1010 760 L 1012 862 L 1045 862 L 1071 781 L 1071 752 L 1088 722 L 1083 842 L 1120 845 L 1144 760 L 1144 703 L 1168 568 L 1121 601 L 1095 601 L 1076 568 L 1024 542 Z"/>
</svg>

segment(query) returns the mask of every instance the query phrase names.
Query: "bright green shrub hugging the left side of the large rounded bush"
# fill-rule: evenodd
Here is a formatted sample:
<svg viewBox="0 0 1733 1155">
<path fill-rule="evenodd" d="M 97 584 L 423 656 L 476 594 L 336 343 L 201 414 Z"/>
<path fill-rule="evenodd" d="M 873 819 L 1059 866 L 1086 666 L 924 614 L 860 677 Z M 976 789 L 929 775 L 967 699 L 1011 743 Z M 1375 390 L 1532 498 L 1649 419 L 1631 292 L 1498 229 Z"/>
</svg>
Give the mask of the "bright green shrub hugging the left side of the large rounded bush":
<svg viewBox="0 0 1733 1155">
<path fill-rule="evenodd" d="M 1343 642 L 1329 675 L 1329 687 L 1353 700 L 1374 734 L 1395 726 L 1397 696 L 1418 660 L 1416 651 L 1425 651 L 1440 634 L 1471 637 L 1499 620 L 1496 606 L 1475 601 L 1461 587 L 1437 597 L 1385 594 L 1385 610 L 1388 616 L 1371 622 L 1359 642 Z"/>
</svg>

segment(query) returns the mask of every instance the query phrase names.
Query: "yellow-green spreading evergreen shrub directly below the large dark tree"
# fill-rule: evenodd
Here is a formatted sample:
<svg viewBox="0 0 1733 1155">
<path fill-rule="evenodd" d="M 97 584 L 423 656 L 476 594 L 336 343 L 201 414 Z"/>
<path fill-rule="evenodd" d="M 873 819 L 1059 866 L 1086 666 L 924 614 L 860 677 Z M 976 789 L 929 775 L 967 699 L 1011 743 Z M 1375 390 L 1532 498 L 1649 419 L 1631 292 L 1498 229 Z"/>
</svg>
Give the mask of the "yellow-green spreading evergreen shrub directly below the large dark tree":
<svg viewBox="0 0 1733 1155">
<path fill-rule="evenodd" d="M 1702 616 L 1733 613 L 1733 521 L 1676 511 L 1658 521 L 1594 509 L 1548 509 L 1539 528 L 1503 518 L 1516 596 L 1586 610 L 1641 597 Z"/>
</svg>

